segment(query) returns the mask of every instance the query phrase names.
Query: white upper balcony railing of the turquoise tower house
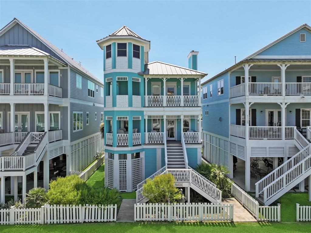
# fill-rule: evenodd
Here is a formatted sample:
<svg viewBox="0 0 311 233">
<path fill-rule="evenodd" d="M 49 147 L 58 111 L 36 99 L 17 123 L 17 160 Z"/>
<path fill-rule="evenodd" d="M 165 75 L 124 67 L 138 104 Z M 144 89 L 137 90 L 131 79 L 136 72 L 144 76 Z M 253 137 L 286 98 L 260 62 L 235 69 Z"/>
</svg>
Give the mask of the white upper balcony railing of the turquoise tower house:
<svg viewBox="0 0 311 233">
<path fill-rule="evenodd" d="M 146 96 L 146 107 L 197 107 L 199 96 Z"/>
</svg>

